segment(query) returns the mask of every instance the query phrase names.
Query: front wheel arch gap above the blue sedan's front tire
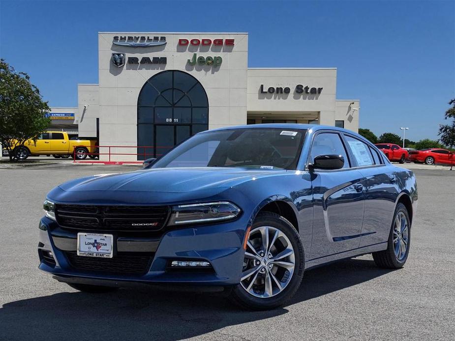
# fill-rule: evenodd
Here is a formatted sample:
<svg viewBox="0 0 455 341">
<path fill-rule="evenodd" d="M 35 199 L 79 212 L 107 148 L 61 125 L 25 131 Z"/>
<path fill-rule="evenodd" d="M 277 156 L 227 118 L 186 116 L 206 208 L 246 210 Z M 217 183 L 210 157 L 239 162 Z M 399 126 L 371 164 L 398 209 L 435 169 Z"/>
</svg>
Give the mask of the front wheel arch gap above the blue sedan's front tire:
<svg viewBox="0 0 455 341">
<path fill-rule="evenodd" d="M 288 220 L 294 228 L 299 231 L 299 220 L 297 208 L 291 199 L 285 196 L 273 196 L 269 197 L 256 207 L 253 214 L 251 215 L 250 225 L 260 212 L 272 212 L 280 215 L 281 217 Z"/>
</svg>

